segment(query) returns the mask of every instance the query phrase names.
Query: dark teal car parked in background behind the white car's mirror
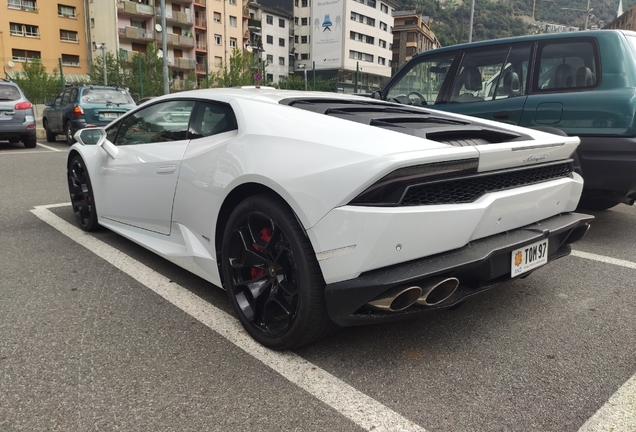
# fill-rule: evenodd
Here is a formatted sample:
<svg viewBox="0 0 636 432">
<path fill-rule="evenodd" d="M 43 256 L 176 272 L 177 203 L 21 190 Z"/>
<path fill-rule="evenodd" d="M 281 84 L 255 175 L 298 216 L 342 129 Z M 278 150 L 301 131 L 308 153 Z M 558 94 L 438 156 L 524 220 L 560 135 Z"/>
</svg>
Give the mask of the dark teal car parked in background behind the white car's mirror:
<svg viewBox="0 0 636 432">
<path fill-rule="evenodd" d="M 85 127 L 106 126 L 137 106 L 130 94 L 118 87 L 81 86 L 61 92 L 53 102 L 47 102 L 42 113 L 46 140 L 55 142 L 64 134 L 73 144 L 75 132 Z"/>
</svg>

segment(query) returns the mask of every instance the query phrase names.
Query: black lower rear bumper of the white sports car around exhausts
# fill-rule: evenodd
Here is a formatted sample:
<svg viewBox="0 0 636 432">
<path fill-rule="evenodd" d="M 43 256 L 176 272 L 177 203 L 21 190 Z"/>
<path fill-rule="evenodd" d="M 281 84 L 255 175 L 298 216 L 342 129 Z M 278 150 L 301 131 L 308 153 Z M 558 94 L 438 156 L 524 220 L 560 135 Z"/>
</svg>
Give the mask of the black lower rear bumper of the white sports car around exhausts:
<svg viewBox="0 0 636 432">
<path fill-rule="evenodd" d="M 570 253 L 570 243 L 580 240 L 593 216 L 566 213 L 525 227 L 475 240 L 453 251 L 396 264 L 361 274 L 355 279 L 327 284 L 325 297 L 330 318 L 342 326 L 411 318 L 448 308 L 467 297 L 510 281 L 511 252 L 549 239 L 548 262 Z M 435 306 L 413 305 L 400 312 L 381 312 L 365 305 L 383 292 L 401 285 L 416 285 L 437 277 L 456 277 L 459 288 Z"/>
</svg>

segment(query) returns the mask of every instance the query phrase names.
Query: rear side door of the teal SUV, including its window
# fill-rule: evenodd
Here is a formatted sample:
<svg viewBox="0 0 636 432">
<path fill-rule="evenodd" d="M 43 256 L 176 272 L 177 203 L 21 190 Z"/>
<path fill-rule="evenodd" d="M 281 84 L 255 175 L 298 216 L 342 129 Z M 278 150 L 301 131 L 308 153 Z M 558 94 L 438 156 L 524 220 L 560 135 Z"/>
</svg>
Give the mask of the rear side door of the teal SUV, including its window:
<svg viewBox="0 0 636 432">
<path fill-rule="evenodd" d="M 466 50 L 436 109 L 518 125 L 527 100 L 532 44 Z"/>
</svg>

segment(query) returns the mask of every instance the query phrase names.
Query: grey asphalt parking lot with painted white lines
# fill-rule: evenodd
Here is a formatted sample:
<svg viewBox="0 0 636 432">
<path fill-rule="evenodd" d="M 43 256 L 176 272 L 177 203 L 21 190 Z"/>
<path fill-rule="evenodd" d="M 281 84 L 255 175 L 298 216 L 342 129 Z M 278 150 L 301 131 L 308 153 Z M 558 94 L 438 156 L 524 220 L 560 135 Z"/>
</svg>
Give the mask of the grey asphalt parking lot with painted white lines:
<svg viewBox="0 0 636 432">
<path fill-rule="evenodd" d="M 636 431 L 636 208 L 452 311 L 254 343 L 225 293 L 81 232 L 68 146 L 0 143 L 0 431 Z"/>
</svg>

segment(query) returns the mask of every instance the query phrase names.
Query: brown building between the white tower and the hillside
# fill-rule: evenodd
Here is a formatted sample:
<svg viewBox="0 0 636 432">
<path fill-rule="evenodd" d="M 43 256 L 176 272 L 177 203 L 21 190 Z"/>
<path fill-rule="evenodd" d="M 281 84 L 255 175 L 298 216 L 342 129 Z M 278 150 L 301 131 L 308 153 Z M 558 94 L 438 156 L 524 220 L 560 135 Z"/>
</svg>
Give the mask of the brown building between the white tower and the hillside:
<svg viewBox="0 0 636 432">
<path fill-rule="evenodd" d="M 393 12 L 392 67 L 397 70 L 415 54 L 440 48 L 441 44 L 431 30 L 430 17 L 415 11 Z"/>
</svg>

